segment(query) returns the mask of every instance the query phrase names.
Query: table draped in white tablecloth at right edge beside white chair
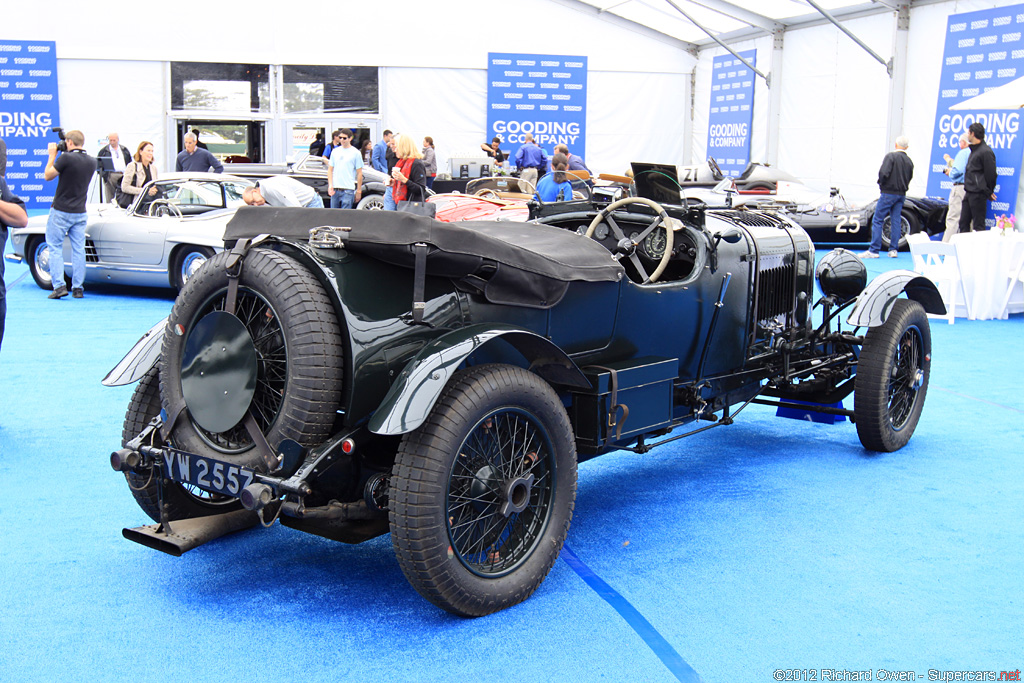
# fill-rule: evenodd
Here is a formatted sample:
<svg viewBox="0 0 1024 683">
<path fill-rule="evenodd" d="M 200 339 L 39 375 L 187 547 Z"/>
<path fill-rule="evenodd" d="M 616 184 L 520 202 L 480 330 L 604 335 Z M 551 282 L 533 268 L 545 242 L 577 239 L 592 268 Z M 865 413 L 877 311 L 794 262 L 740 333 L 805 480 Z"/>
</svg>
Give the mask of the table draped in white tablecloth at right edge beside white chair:
<svg viewBox="0 0 1024 683">
<path fill-rule="evenodd" d="M 1024 233 L 1008 231 L 1004 236 L 999 230 L 959 232 L 950 240 L 956 247 L 964 289 L 971 301 L 971 319 L 1006 319 L 1002 299 L 1007 295 L 1014 246 L 1022 242 Z M 1016 286 L 1020 288 L 1021 283 L 1018 282 Z M 1011 298 L 1010 301 L 1010 312 L 1024 310 L 1021 297 Z M 968 316 L 967 307 L 963 303 L 957 302 L 955 315 Z"/>
</svg>

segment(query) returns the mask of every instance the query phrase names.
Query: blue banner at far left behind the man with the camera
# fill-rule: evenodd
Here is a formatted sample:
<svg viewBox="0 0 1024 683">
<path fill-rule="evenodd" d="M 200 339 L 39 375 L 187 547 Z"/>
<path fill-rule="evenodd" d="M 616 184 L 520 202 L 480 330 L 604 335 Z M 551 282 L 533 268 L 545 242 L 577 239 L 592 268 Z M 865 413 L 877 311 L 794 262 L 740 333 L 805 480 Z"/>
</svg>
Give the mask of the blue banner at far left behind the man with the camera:
<svg viewBox="0 0 1024 683">
<path fill-rule="evenodd" d="M 49 209 L 55 182 L 43 180 L 46 143 L 60 125 L 57 52 L 52 41 L 0 40 L 0 137 L 7 186 L 28 209 Z"/>
</svg>

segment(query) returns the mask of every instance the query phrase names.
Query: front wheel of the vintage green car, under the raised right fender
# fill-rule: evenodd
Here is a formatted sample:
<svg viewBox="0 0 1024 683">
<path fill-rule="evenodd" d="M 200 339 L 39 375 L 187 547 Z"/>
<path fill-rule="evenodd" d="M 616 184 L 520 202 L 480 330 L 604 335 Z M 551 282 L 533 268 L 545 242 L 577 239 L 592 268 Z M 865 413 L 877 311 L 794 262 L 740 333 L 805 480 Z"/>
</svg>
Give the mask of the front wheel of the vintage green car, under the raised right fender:
<svg viewBox="0 0 1024 683">
<path fill-rule="evenodd" d="M 889 317 L 867 331 L 857 364 L 853 413 L 868 451 L 906 445 L 921 419 L 932 367 L 932 332 L 916 301 L 897 299 Z"/>
</svg>

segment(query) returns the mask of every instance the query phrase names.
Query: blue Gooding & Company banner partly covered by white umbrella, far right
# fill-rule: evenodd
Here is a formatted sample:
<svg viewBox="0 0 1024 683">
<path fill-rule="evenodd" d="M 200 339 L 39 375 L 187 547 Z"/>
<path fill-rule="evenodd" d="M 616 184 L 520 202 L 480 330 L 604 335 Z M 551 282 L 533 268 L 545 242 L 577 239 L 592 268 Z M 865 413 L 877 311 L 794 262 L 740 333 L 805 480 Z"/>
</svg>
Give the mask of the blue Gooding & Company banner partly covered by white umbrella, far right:
<svg viewBox="0 0 1024 683">
<path fill-rule="evenodd" d="M 1019 110 L 950 110 L 949 108 L 1024 76 L 1024 5 L 951 14 L 946 26 L 935 132 L 928 169 L 928 194 L 948 197 L 951 183 L 943 173 L 944 155 L 955 157 L 959 136 L 978 122 L 985 142 L 995 153 L 999 180 L 985 223 L 1009 216 L 1017 205 L 1024 143 Z"/>
</svg>

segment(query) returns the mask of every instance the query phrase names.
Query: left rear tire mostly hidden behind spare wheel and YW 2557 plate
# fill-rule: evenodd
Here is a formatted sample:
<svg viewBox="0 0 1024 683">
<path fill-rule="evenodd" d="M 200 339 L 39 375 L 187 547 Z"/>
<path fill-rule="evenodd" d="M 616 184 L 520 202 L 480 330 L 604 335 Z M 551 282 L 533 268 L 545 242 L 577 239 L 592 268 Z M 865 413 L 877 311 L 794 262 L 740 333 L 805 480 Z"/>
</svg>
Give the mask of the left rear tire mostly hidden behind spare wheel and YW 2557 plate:
<svg viewBox="0 0 1024 683">
<path fill-rule="evenodd" d="M 135 387 L 135 392 L 128 403 L 125 413 L 125 424 L 121 429 L 121 445 L 138 436 L 153 418 L 160 413 L 160 375 L 156 368 L 145 374 L 145 377 Z M 209 494 L 201 488 L 185 486 L 170 479 L 157 479 L 150 472 L 125 472 L 131 495 L 150 515 L 153 521 L 160 521 L 160 488 L 163 487 L 164 503 L 167 505 L 167 516 L 170 521 L 175 519 L 191 519 L 209 515 L 230 512 L 242 508 L 238 500 Z"/>
</svg>

